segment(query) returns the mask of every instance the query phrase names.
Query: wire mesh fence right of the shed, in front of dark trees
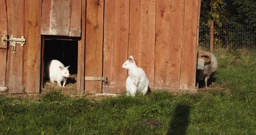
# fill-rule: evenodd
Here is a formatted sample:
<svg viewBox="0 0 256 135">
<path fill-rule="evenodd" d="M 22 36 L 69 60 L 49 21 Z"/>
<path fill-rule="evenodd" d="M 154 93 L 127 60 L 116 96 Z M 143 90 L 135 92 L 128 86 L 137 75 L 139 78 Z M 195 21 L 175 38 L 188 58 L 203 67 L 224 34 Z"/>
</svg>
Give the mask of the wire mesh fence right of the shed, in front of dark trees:
<svg viewBox="0 0 256 135">
<path fill-rule="evenodd" d="M 239 21 L 222 20 L 221 25 L 214 23 L 214 49 L 227 50 L 247 49 L 256 51 L 256 24 L 248 24 Z M 209 50 L 210 28 L 200 24 L 199 48 Z"/>
</svg>

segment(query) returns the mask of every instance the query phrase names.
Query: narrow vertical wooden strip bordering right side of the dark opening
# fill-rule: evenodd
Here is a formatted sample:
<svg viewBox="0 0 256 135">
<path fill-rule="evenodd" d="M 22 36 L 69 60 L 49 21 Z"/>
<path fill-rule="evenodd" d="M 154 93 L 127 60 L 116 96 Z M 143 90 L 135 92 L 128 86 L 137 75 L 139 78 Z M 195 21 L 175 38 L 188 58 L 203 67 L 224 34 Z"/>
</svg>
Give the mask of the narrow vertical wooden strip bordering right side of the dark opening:
<svg viewBox="0 0 256 135">
<path fill-rule="evenodd" d="M 77 92 L 84 92 L 84 62 L 86 47 L 86 0 L 82 0 L 81 9 L 81 40 L 78 41 L 78 57 L 77 57 Z"/>
</svg>

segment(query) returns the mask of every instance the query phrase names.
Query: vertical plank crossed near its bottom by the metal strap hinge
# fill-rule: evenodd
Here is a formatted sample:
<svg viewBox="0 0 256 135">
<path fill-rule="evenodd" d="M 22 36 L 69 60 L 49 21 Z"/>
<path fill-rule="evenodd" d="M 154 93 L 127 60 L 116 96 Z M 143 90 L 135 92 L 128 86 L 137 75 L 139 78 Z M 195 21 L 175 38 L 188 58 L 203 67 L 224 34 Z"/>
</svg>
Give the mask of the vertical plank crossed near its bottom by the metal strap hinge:
<svg viewBox="0 0 256 135">
<path fill-rule="evenodd" d="M 102 76 L 103 0 L 87 1 L 86 76 Z M 86 92 L 101 93 L 101 81 L 86 81 Z"/>
</svg>

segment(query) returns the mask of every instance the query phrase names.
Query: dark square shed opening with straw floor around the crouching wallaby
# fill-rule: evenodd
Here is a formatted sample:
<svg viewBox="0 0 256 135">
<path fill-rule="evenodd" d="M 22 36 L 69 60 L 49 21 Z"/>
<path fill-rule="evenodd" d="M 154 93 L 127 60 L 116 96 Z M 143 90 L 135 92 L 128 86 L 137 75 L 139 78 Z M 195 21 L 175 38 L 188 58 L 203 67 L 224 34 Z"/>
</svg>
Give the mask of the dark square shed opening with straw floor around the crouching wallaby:
<svg viewBox="0 0 256 135">
<path fill-rule="evenodd" d="M 48 92 L 52 89 L 61 89 L 67 92 L 76 92 L 77 85 L 77 57 L 78 57 L 78 40 L 68 38 L 58 38 L 57 36 L 52 36 L 51 38 L 43 37 L 42 43 L 42 88 L 41 92 Z M 49 73 L 47 65 L 51 60 L 58 60 L 65 66 L 70 65 L 67 83 L 64 87 L 60 87 L 56 82 L 51 83 L 49 79 Z M 62 85 L 63 82 L 61 82 Z"/>
</svg>

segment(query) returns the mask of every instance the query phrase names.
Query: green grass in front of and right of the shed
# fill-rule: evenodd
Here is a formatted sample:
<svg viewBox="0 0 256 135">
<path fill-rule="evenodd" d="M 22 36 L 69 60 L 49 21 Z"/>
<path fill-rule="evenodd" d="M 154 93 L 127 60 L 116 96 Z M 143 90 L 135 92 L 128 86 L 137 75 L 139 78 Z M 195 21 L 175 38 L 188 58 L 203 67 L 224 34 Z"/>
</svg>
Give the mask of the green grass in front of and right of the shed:
<svg viewBox="0 0 256 135">
<path fill-rule="evenodd" d="M 0 96 L 0 134 L 256 134 L 256 58 L 217 50 L 215 91 L 103 100 L 52 91 L 38 99 Z"/>
</svg>

